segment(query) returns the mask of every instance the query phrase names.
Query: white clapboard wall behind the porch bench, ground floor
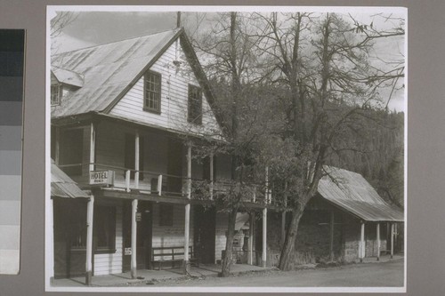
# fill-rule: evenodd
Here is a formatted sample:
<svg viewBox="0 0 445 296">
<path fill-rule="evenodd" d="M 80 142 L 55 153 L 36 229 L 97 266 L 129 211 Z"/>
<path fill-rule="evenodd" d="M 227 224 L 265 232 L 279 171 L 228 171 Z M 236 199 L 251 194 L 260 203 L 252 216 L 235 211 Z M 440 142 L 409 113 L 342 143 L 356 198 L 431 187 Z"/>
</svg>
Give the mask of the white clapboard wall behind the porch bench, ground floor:
<svg viewBox="0 0 445 296">
<path fill-rule="evenodd" d="M 185 206 L 174 204 L 173 225 L 159 226 L 159 204 L 153 204 L 153 247 L 169 247 L 184 245 Z M 193 245 L 193 207 L 190 210 L 190 239 Z M 181 258 L 178 256 L 178 258 Z"/>
</svg>

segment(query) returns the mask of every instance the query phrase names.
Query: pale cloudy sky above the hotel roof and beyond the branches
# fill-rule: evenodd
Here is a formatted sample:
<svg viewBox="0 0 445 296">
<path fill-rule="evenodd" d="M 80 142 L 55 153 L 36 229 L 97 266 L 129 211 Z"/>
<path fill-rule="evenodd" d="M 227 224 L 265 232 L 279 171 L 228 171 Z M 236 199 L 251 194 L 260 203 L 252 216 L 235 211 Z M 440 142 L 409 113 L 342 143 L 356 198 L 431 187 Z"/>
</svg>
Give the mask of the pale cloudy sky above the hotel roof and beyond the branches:
<svg viewBox="0 0 445 296">
<path fill-rule="evenodd" d="M 62 7 L 63 10 L 67 9 L 64 6 L 60 7 Z M 158 8 L 142 6 L 139 11 L 134 11 L 133 6 L 130 6 L 131 8 L 128 8 L 129 6 L 69 7 L 71 11 L 75 11 L 73 12 L 74 17 L 58 36 L 53 37 L 52 40 L 49 41 L 50 44 L 52 44 L 52 52 L 67 52 L 176 28 L 176 12 L 172 12 L 172 8 L 168 6 Z M 93 9 L 91 7 L 93 7 Z M 55 15 L 54 11 L 61 10 L 61 8 L 57 8 L 57 6 L 53 8 L 54 9 L 48 13 L 49 19 L 52 19 Z M 221 6 L 216 8 L 220 10 Z M 239 7 L 236 8 L 238 10 Z M 267 10 L 274 11 L 275 8 L 277 7 L 273 7 L 273 9 L 268 7 Z M 132 11 L 125 11 L 128 9 Z M 283 10 L 283 7 L 279 9 Z M 332 11 L 333 9 L 334 8 L 328 8 L 328 11 Z M 153 10 L 157 11 L 153 12 Z M 190 10 L 190 8 L 188 7 L 187 10 Z M 212 26 L 215 16 L 212 11 L 214 12 L 215 8 L 205 7 L 204 10 L 206 13 L 182 12 L 182 26 L 186 27 L 189 32 L 194 32 L 197 29 L 197 16 L 203 15 L 205 15 L 205 20 L 199 23 L 198 29 Z M 211 12 L 208 12 L 208 10 Z M 343 11 L 341 10 L 340 12 Z M 370 23 L 372 20 L 371 16 L 376 14 L 376 12 L 379 12 L 376 8 L 368 9 L 368 11 L 365 12 L 363 8 L 356 11 L 352 9 L 354 17 L 365 23 Z M 379 28 L 390 28 L 392 25 L 389 20 L 375 20 L 374 24 L 374 26 L 379 26 Z M 404 52 L 404 38 L 384 39 L 386 40 L 379 41 L 375 46 L 378 55 L 384 60 L 401 59 L 401 54 Z M 390 92 L 390 89 L 383 89 L 380 93 L 383 98 L 387 98 Z M 390 110 L 403 111 L 405 108 L 404 98 L 404 90 L 393 93 L 388 108 L 390 108 Z"/>
</svg>

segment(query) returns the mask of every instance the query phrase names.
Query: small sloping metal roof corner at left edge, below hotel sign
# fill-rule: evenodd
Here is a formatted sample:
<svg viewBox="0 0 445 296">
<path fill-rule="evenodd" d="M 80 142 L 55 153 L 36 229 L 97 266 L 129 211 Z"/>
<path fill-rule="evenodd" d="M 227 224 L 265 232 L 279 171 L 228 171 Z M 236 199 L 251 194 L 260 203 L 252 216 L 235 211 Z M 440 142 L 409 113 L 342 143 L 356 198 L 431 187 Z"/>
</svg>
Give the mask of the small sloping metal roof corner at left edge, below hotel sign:
<svg viewBox="0 0 445 296">
<path fill-rule="evenodd" d="M 57 197 L 90 197 L 78 188 L 77 183 L 61 171 L 56 164 L 51 164 L 51 196 Z"/>
</svg>

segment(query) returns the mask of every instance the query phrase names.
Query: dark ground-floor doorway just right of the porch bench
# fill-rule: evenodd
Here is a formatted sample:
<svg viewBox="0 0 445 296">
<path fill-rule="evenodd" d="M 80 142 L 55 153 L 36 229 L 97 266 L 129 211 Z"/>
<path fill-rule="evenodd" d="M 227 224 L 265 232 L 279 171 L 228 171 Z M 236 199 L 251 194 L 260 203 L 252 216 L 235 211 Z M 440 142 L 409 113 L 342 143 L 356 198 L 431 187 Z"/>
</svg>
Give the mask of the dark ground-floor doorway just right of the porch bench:
<svg viewBox="0 0 445 296">
<path fill-rule="evenodd" d="M 195 257 L 199 258 L 201 263 L 213 264 L 216 211 L 214 207 L 205 209 L 202 205 L 194 206 L 193 211 Z"/>
</svg>

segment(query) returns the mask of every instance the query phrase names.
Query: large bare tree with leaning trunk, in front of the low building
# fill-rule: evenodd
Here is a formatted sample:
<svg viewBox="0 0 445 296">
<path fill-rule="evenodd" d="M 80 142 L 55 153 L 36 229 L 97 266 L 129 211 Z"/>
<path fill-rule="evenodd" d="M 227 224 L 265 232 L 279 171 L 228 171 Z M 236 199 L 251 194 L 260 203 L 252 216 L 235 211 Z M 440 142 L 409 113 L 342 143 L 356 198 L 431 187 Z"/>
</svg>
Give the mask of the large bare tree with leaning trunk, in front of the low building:
<svg viewBox="0 0 445 296">
<path fill-rule="evenodd" d="M 288 269 L 303 211 L 328 174 L 329 154 L 354 149 L 342 137 L 363 128 L 362 118 L 383 104 L 378 87 L 369 84 L 372 43 L 344 17 L 297 12 L 256 18 L 267 28 L 258 36 L 270 60 L 269 79 L 283 88 L 285 129 L 265 151 L 274 155 L 268 165 L 281 183 L 277 196 L 292 212 L 279 260 L 279 268 Z"/>
</svg>

